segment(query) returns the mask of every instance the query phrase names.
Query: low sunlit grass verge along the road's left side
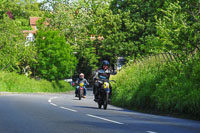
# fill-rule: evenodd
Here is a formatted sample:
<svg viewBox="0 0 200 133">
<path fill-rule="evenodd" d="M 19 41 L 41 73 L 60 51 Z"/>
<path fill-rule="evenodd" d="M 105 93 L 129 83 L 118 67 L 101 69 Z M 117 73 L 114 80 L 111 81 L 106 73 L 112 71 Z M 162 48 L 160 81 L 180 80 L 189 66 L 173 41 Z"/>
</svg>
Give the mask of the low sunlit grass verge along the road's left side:
<svg viewBox="0 0 200 133">
<path fill-rule="evenodd" d="M 65 81 L 30 79 L 16 73 L 0 72 L 0 91 L 5 92 L 66 92 L 74 90 Z"/>
</svg>

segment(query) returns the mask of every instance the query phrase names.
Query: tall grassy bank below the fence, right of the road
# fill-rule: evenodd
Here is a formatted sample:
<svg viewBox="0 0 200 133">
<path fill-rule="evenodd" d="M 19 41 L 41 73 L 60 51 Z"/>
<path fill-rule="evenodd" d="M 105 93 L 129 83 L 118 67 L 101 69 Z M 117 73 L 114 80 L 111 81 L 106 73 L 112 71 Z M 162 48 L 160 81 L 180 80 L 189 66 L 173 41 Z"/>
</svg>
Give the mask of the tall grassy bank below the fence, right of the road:
<svg viewBox="0 0 200 133">
<path fill-rule="evenodd" d="M 145 59 L 112 79 L 114 105 L 200 120 L 199 57 L 185 63 Z"/>
</svg>

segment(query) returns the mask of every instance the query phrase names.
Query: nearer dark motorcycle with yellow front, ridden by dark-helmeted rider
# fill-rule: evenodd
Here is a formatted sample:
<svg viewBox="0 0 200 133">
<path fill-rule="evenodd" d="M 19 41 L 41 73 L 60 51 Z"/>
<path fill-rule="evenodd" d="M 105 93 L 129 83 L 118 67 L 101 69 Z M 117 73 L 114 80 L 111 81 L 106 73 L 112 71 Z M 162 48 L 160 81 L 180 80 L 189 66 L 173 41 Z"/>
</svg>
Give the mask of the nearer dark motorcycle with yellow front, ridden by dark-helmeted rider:
<svg viewBox="0 0 200 133">
<path fill-rule="evenodd" d="M 98 108 L 101 109 L 103 105 L 103 108 L 107 109 L 110 93 L 109 80 L 99 80 L 98 82 L 101 84 L 97 101 Z"/>
</svg>

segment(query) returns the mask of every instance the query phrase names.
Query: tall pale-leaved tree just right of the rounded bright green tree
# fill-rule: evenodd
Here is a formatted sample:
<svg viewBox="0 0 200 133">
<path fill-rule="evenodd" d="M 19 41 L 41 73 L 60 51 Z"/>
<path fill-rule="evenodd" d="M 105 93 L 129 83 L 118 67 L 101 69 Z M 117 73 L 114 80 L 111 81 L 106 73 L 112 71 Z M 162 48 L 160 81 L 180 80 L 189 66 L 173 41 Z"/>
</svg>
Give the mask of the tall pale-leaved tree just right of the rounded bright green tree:
<svg viewBox="0 0 200 133">
<path fill-rule="evenodd" d="M 89 41 L 88 27 L 92 21 L 89 13 L 81 4 L 72 2 L 71 4 L 54 3 L 54 13 L 47 14 L 50 21 L 50 28 L 62 31 L 66 41 L 71 45 L 75 56 L 78 59 L 76 74 L 84 72 L 89 75 L 96 68 L 98 56 L 95 55 L 95 49 Z"/>
</svg>

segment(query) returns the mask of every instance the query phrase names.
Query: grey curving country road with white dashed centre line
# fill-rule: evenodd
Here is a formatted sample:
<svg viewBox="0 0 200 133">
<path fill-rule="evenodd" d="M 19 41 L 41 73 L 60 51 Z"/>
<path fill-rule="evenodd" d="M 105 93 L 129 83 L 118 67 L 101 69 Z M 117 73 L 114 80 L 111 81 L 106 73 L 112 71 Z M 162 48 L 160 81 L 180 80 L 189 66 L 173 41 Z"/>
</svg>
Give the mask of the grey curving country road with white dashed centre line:
<svg viewBox="0 0 200 133">
<path fill-rule="evenodd" d="M 1 94 L 0 133 L 200 133 L 200 122 L 138 113 L 109 105 L 98 109 L 91 91 Z"/>
</svg>

